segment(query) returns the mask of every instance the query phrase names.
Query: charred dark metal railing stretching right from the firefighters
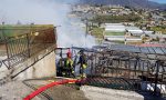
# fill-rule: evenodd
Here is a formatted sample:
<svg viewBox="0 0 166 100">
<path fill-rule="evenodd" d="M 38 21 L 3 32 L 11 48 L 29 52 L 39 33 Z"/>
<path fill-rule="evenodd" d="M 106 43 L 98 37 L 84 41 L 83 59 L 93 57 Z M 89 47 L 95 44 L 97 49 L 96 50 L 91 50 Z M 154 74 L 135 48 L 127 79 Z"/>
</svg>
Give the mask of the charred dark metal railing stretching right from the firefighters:
<svg viewBox="0 0 166 100">
<path fill-rule="evenodd" d="M 165 56 L 148 54 L 112 49 L 96 52 L 89 61 L 89 78 L 96 86 L 166 94 Z"/>
</svg>

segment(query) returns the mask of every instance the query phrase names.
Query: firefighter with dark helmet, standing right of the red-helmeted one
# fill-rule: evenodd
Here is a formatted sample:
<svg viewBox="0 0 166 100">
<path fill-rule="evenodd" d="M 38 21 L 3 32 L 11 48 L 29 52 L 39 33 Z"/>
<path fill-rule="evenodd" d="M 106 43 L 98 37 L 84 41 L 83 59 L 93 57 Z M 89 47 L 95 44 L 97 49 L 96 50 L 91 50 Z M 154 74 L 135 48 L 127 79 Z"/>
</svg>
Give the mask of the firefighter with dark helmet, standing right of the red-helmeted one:
<svg viewBox="0 0 166 100">
<path fill-rule="evenodd" d="M 85 70 L 87 68 L 87 61 L 86 61 L 86 54 L 84 53 L 83 50 L 80 50 L 80 59 L 79 59 L 77 64 L 80 64 L 81 78 L 86 78 Z"/>
</svg>

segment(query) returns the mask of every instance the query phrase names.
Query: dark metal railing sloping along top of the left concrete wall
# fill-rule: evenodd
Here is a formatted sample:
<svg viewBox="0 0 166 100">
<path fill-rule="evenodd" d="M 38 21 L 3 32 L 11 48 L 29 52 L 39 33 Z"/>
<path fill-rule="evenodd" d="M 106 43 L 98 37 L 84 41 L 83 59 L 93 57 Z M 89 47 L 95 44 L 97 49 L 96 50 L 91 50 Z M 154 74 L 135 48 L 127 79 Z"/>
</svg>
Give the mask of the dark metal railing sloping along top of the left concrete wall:
<svg viewBox="0 0 166 100">
<path fill-rule="evenodd" d="M 53 27 L 39 28 L 30 30 L 29 33 L 4 37 L 1 46 L 6 46 L 8 57 L 2 62 L 8 69 L 11 69 L 42 50 L 55 49 L 55 29 Z"/>
</svg>

